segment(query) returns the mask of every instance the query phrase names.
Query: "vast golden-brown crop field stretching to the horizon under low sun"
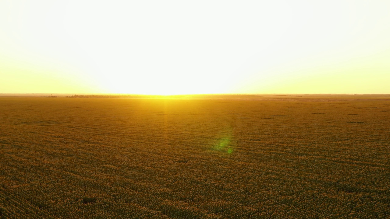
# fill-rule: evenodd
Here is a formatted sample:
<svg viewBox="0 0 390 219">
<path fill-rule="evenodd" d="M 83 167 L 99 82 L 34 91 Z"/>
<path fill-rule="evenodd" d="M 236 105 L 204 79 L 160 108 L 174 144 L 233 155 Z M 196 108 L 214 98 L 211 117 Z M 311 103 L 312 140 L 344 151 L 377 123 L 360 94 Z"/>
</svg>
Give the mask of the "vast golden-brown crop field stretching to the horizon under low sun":
<svg viewBox="0 0 390 219">
<path fill-rule="evenodd" d="M 0 98 L 0 218 L 390 218 L 390 97 Z"/>
</svg>

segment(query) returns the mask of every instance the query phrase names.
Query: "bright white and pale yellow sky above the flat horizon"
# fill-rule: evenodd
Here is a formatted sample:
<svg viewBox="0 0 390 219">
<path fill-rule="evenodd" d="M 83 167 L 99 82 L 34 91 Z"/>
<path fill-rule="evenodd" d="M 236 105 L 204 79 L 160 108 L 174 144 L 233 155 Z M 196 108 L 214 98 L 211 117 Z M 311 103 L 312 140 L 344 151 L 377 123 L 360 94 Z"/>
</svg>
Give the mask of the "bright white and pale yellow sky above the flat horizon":
<svg viewBox="0 0 390 219">
<path fill-rule="evenodd" d="M 0 93 L 389 94 L 390 1 L 0 0 Z"/>
</svg>

